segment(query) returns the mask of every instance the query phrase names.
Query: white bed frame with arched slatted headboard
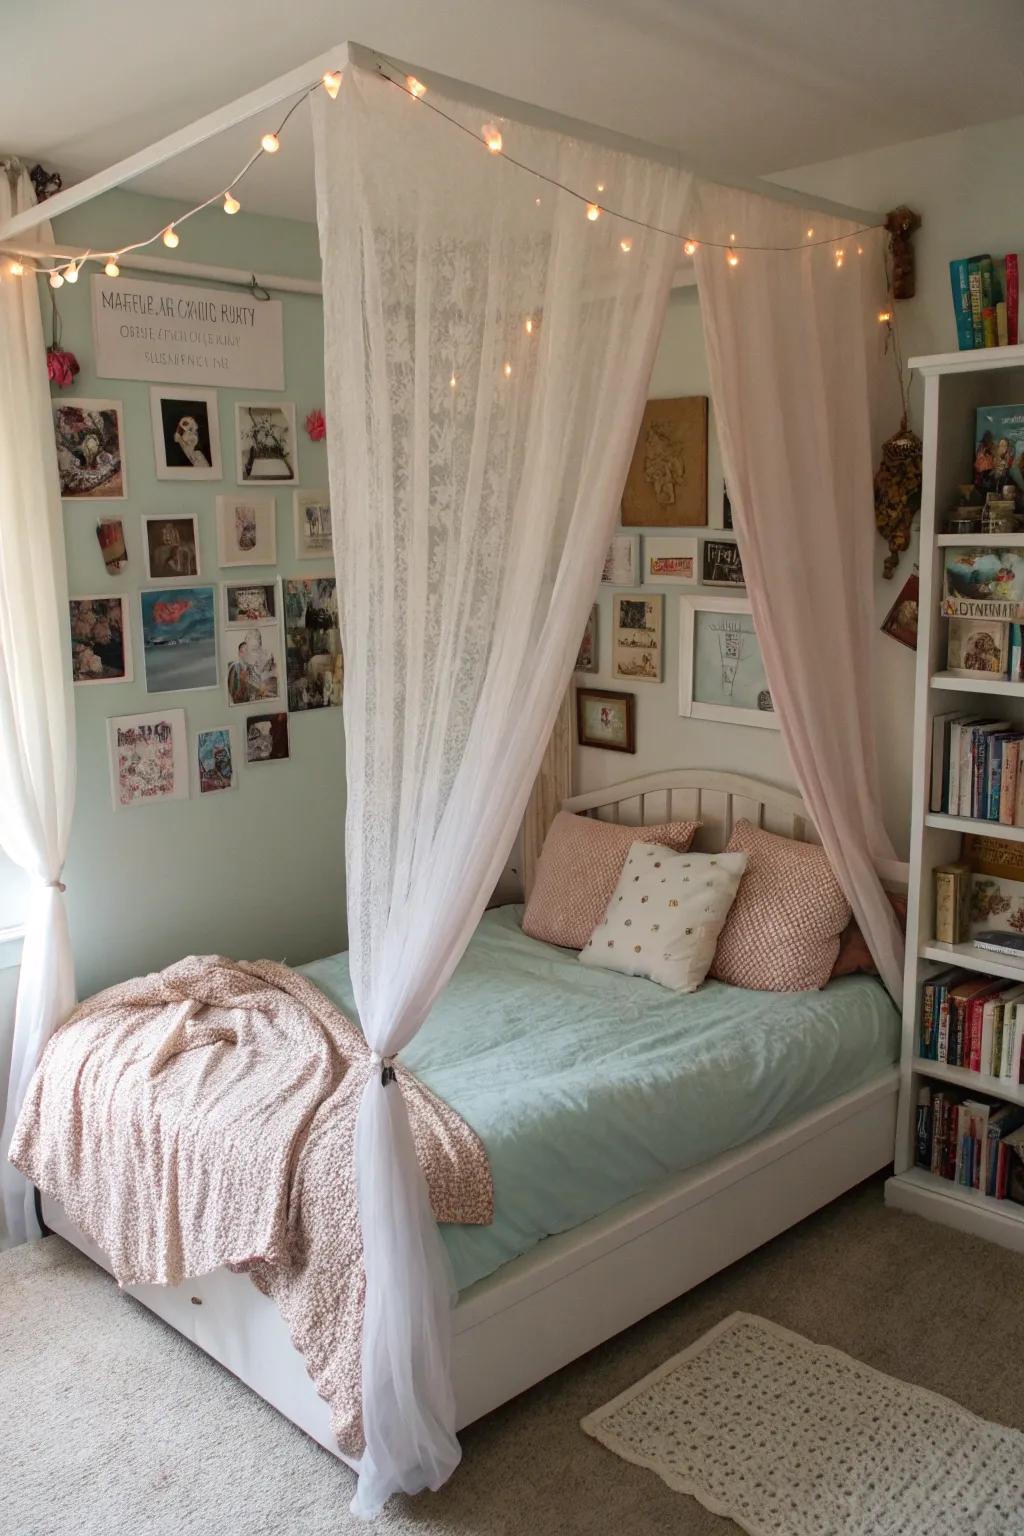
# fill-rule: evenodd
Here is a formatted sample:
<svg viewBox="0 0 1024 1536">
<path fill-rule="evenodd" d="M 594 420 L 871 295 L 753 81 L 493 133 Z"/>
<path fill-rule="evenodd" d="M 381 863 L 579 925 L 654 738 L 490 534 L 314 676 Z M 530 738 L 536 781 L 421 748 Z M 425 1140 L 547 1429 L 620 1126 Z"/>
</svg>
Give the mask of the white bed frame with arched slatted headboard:
<svg viewBox="0 0 1024 1536">
<path fill-rule="evenodd" d="M 563 808 L 625 825 L 700 816 L 703 826 L 694 846 L 709 851 L 728 842 L 740 817 L 786 837 L 817 842 L 798 796 L 731 773 L 649 774 L 576 796 Z M 906 882 L 904 865 L 887 863 L 880 874 L 887 885 Z M 890 1163 L 898 1081 L 894 1066 L 866 1087 L 548 1238 L 465 1290 L 454 1310 L 459 1427 Z M 43 1215 L 54 1232 L 109 1269 L 106 1255 L 60 1206 L 43 1200 Z M 327 1404 L 306 1375 L 284 1321 L 246 1276 L 221 1269 L 183 1286 L 129 1290 L 321 1445 L 341 1455 Z"/>
</svg>

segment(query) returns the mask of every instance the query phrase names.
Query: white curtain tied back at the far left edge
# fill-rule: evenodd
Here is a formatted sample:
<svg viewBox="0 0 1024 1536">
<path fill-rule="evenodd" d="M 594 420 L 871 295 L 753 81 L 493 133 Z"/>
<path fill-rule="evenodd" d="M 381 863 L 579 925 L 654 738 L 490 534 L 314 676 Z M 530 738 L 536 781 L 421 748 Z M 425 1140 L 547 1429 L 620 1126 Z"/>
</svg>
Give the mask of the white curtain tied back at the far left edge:
<svg viewBox="0 0 1024 1536">
<path fill-rule="evenodd" d="M 34 203 L 28 174 L 0 161 L 0 220 Z M 38 1055 L 75 1001 L 60 885 L 74 799 L 64 525 L 38 287 L 0 263 L 0 848 L 32 877 L 14 1048 L 0 1061 L 6 1243 L 38 1230 L 8 1147 Z"/>
</svg>

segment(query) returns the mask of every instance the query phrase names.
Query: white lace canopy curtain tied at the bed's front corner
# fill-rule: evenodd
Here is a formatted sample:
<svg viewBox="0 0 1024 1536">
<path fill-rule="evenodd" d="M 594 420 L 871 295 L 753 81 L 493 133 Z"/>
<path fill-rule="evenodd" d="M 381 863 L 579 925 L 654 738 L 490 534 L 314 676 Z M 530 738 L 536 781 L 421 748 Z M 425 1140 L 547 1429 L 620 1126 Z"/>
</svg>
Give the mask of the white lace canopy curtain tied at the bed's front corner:
<svg viewBox="0 0 1024 1536">
<path fill-rule="evenodd" d="M 689 177 L 352 69 L 313 100 L 345 650 L 365 1452 L 353 1510 L 459 1459 L 450 1279 L 388 1060 L 511 848 L 636 442 L 677 244 L 488 155 L 682 227 Z M 470 132 L 445 121 L 441 108 Z M 623 252 L 620 241 L 633 238 Z"/>
</svg>

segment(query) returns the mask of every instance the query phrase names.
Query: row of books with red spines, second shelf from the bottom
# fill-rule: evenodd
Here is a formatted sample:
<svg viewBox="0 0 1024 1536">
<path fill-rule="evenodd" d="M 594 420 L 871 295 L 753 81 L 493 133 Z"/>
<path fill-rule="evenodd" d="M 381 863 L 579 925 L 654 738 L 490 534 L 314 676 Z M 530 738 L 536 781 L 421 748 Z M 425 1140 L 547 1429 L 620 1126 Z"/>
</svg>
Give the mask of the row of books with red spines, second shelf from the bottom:
<svg viewBox="0 0 1024 1536">
<path fill-rule="evenodd" d="M 1004 1083 L 1021 1081 L 1024 986 L 943 971 L 921 988 L 918 1055 Z"/>
</svg>

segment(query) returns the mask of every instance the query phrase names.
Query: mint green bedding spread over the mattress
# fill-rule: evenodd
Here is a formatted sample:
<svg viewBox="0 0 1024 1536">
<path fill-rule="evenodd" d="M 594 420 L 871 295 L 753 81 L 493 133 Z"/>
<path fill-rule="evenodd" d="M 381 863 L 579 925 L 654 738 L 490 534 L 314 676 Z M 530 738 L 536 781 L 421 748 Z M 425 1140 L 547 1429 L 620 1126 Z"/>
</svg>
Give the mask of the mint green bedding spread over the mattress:
<svg viewBox="0 0 1024 1536">
<path fill-rule="evenodd" d="M 900 1020 L 877 977 L 679 995 L 582 966 L 520 919 L 520 906 L 485 914 L 402 1057 L 491 1160 L 493 1224 L 441 1227 L 459 1290 L 898 1060 Z M 345 954 L 301 969 L 355 1017 Z"/>
</svg>

